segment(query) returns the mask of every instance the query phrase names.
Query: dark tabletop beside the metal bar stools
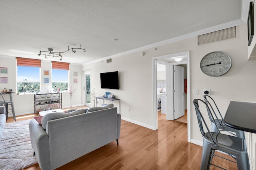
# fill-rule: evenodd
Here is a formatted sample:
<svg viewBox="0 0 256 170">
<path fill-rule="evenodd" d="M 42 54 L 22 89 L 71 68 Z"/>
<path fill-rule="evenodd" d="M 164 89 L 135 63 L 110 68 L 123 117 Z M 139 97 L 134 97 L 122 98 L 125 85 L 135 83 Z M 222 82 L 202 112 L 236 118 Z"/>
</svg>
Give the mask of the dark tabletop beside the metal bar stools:
<svg viewBox="0 0 256 170">
<path fill-rule="evenodd" d="M 256 133 L 256 103 L 231 101 L 223 122 L 234 129 Z"/>
</svg>

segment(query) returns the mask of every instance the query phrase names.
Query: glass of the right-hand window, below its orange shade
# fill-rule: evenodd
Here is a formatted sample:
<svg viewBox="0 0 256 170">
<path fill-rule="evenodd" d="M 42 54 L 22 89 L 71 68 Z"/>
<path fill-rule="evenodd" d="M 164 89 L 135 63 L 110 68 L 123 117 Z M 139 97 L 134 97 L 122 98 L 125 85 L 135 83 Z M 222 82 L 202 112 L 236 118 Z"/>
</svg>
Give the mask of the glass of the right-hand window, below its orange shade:
<svg viewBox="0 0 256 170">
<path fill-rule="evenodd" d="M 68 70 L 52 69 L 52 88 L 57 91 L 68 90 Z"/>
</svg>

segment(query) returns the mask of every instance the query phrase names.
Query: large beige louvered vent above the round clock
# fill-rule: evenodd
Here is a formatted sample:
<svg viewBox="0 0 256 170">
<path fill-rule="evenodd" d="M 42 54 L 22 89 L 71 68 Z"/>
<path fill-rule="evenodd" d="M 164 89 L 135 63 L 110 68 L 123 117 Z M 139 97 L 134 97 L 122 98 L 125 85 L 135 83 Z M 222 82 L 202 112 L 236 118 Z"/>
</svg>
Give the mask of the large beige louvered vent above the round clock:
<svg viewBox="0 0 256 170">
<path fill-rule="evenodd" d="M 197 36 L 197 45 L 213 43 L 226 39 L 236 38 L 236 27 L 230 27 L 212 33 Z"/>
</svg>

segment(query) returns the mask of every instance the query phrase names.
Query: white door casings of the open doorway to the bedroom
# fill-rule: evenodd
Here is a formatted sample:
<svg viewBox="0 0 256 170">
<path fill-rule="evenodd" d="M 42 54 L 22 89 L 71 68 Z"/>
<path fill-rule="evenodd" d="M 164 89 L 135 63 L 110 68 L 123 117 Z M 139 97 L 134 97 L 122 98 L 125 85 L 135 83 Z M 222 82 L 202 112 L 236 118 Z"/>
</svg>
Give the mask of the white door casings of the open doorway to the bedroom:
<svg viewBox="0 0 256 170">
<path fill-rule="evenodd" d="M 187 127 L 188 127 L 188 141 L 190 142 L 190 58 L 189 58 L 189 51 L 181 52 L 181 53 L 174 53 L 170 55 L 164 55 L 159 57 L 153 57 L 153 98 L 154 98 L 154 130 L 158 129 L 158 115 L 157 115 L 157 75 L 156 75 L 156 65 L 159 61 L 166 62 L 166 103 L 170 103 L 166 105 L 166 119 L 173 120 L 174 119 L 174 94 L 172 93 L 173 89 L 173 82 L 174 82 L 174 76 L 172 76 L 172 68 L 173 65 L 178 65 L 177 62 L 174 64 L 170 61 L 173 61 L 177 57 L 185 58 L 185 61 L 178 62 L 178 64 L 186 64 L 186 76 L 187 76 L 187 98 L 185 101 L 187 101 Z M 170 60 L 170 61 L 169 61 Z"/>
</svg>

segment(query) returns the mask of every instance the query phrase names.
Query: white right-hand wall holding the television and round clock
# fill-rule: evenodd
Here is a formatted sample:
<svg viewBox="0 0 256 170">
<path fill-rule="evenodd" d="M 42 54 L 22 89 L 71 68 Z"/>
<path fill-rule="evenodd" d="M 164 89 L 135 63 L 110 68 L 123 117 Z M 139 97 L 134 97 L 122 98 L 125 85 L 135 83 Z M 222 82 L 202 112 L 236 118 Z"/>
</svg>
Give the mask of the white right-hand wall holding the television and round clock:
<svg viewBox="0 0 256 170">
<path fill-rule="evenodd" d="M 203 89 L 211 89 L 211 96 L 216 100 L 223 115 L 228 104 L 233 101 L 256 102 L 256 60 L 247 60 L 247 25 L 238 27 L 238 38 L 230 39 L 208 45 L 196 45 L 196 37 L 161 45 L 142 51 L 113 58 L 113 63 L 106 61 L 83 66 L 83 70 L 91 69 L 91 87 L 96 88 L 98 94 L 103 94 L 100 89 L 100 73 L 119 71 L 120 90 L 108 90 L 120 98 L 122 119 L 153 127 L 153 93 L 152 93 L 152 57 L 168 55 L 183 51 L 190 51 L 190 95 L 191 107 L 191 141 L 202 144 L 202 135 L 198 127 L 196 113 L 192 101 L 195 98 L 203 99 Z M 232 58 L 232 68 L 220 77 L 210 77 L 200 70 L 200 61 L 204 55 L 212 51 L 223 51 Z M 198 89 L 199 94 L 192 94 L 193 89 Z M 128 109 L 130 108 L 130 111 Z M 207 116 L 207 115 L 205 115 Z M 252 134 L 254 136 L 255 134 Z M 255 136 L 253 139 L 255 145 Z M 255 158 L 255 156 L 254 156 Z"/>
</svg>

